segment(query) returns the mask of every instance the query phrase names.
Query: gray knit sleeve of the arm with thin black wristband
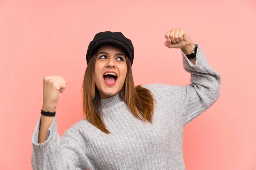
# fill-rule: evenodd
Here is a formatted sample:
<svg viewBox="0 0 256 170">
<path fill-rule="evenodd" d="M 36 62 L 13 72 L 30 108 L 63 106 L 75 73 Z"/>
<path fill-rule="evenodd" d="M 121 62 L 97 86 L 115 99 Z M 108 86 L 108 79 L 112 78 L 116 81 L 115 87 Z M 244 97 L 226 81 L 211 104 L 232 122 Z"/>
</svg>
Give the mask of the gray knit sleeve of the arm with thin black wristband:
<svg viewBox="0 0 256 170">
<path fill-rule="evenodd" d="M 47 140 L 44 143 L 38 143 L 40 122 L 41 116 L 32 136 L 31 164 L 33 170 L 88 169 L 89 161 L 84 152 L 84 142 L 79 130 L 71 127 L 60 138 L 55 116 L 48 129 Z"/>
</svg>

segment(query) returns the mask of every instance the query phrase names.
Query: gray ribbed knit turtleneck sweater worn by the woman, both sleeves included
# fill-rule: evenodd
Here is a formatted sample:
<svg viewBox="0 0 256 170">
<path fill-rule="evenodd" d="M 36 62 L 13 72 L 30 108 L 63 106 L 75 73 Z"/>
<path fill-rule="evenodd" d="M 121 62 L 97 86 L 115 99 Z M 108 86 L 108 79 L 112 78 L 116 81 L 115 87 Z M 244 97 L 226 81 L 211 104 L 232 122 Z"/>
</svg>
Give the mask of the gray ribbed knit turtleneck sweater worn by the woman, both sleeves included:
<svg viewBox="0 0 256 170">
<path fill-rule="evenodd" d="M 60 137 L 57 115 L 47 141 L 38 144 L 39 118 L 32 136 L 32 169 L 185 170 L 183 128 L 218 99 L 221 84 L 220 75 L 211 68 L 200 46 L 195 45 L 195 65 L 181 51 L 191 84 L 143 86 L 157 101 L 153 124 L 135 118 L 119 94 L 102 99 L 104 122 L 111 134 L 103 133 L 84 118 Z"/>
</svg>

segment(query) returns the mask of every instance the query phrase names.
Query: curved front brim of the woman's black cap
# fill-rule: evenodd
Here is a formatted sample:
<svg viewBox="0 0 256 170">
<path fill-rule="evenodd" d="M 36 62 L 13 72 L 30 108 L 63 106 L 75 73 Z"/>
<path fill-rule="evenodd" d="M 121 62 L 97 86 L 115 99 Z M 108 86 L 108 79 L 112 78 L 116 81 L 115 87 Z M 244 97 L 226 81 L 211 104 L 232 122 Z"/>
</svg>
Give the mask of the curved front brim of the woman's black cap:
<svg viewBox="0 0 256 170">
<path fill-rule="evenodd" d="M 96 42 L 96 44 L 93 45 L 93 47 L 91 48 L 89 56 L 91 57 L 91 55 L 94 53 L 95 50 L 97 50 L 101 45 L 107 44 L 107 43 L 114 44 L 114 45 L 117 45 L 119 48 L 122 48 L 128 54 L 128 57 L 131 60 L 132 53 L 131 53 L 131 50 L 128 48 L 128 46 L 125 45 L 125 43 L 119 40 L 115 40 L 113 38 L 106 38 L 104 40 L 99 40 L 98 42 Z"/>
</svg>

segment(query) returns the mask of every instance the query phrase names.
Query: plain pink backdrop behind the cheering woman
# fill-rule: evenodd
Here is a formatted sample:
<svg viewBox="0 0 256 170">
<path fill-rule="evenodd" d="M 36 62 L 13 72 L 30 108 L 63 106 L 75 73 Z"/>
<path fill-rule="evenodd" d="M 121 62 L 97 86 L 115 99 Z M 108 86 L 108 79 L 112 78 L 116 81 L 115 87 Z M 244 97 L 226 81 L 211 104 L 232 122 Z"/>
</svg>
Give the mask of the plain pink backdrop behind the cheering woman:
<svg viewBox="0 0 256 170">
<path fill-rule="evenodd" d="M 29 170 L 45 76 L 68 84 L 56 113 L 62 135 L 82 119 L 86 51 L 100 31 L 134 44 L 135 85 L 186 85 L 180 49 L 164 45 L 183 28 L 221 75 L 218 101 L 184 129 L 186 170 L 256 169 L 254 0 L 0 1 L 0 169 Z"/>
</svg>

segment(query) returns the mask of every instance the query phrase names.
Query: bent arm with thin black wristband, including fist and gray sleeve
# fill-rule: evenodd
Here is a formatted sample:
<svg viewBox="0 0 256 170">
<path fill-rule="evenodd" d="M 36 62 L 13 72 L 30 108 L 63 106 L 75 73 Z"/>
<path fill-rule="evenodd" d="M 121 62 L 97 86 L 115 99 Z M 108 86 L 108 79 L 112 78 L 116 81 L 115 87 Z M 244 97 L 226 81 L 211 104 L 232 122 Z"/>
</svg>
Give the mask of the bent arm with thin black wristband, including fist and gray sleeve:
<svg viewBox="0 0 256 170">
<path fill-rule="evenodd" d="M 59 93 L 63 93 L 67 82 L 61 76 L 43 79 L 43 111 L 55 112 Z M 56 116 L 41 115 L 32 136 L 33 170 L 85 170 L 90 165 L 85 154 L 85 142 L 76 126 L 66 130 L 60 138 Z"/>
</svg>

